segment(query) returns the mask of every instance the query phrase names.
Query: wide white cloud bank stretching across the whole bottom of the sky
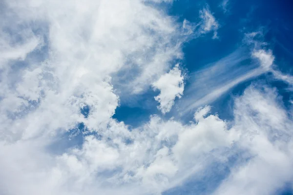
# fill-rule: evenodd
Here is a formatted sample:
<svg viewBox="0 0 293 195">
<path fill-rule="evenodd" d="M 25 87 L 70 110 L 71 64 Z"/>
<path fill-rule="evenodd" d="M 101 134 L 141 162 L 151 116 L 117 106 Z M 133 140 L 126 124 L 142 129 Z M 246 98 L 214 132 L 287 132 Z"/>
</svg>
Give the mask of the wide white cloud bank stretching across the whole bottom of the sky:
<svg viewBox="0 0 293 195">
<path fill-rule="evenodd" d="M 55 143 L 52 136 L 1 141 L 1 191 L 156 194 L 189 176 L 200 178 L 197 173 L 209 172 L 211 163 L 228 163 L 230 156 L 244 151 L 215 194 L 270 194 L 293 176 L 288 172 L 293 166 L 293 121 L 280 98 L 276 90 L 251 86 L 235 99 L 232 126 L 210 115 L 210 107 L 199 109 L 190 125 L 153 116 L 129 131 L 111 120 L 100 132 L 102 138 L 85 136 L 81 148 L 61 155 L 47 149 Z"/>
</svg>

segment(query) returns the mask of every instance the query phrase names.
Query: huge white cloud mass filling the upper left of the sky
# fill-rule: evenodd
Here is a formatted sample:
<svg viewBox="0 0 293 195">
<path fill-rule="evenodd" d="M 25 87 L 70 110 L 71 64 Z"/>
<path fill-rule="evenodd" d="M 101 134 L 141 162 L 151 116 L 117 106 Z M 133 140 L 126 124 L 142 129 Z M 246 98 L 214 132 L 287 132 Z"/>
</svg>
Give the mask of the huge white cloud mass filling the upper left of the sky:
<svg viewBox="0 0 293 195">
<path fill-rule="evenodd" d="M 67 131 L 77 122 L 99 129 L 119 104 L 112 83 L 125 82 L 126 93 L 138 93 L 181 56 L 181 25 L 141 1 L 4 4 L 1 51 L 9 55 L 1 56 L 0 120 L 5 132 L 11 127 L 29 138 L 48 129 Z M 133 70 L 130 80 L 120 78 Z M 84 105 L 90 107 L 87 118 L 80 114 Z"/>
</svg>

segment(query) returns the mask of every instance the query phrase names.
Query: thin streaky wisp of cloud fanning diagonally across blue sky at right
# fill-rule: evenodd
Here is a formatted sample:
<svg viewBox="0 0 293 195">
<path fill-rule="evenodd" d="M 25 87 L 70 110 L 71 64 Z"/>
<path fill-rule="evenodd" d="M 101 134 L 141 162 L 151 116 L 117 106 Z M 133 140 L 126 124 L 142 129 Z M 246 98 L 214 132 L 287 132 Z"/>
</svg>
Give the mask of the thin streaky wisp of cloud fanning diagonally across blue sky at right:
<svg viewBox="0 0 293 195">
<path fill-rule="evenodd" d="M 191 85 L 185 90 L 188 98 L 183 98 L 179 105 L 181 115 L 209 104 L 239 83 L 267 72 L 271 72 L 274 78 L 283 80 L 292 86 L 293 77 L 275 69 L 276 66 L 273 64 L 275 57 L 272 50 L 265 48 L 268 43 L 256 40 L 262 36 L 262 32 L 245 34 L 243 41 L 248 46 L 252 44 L 251 53 L 248 53 L 249 50 L 246 50 L 245 47 L 239 48 L 227 57 L 207 64 L 203 69 L 193 73 L 190 77 Z M 250 64 L 245 67 L 241 66 L 241 63 L 247 62 L 249 56 L 257 59 L 257 62 L 249 62 Z"/>
</svg>

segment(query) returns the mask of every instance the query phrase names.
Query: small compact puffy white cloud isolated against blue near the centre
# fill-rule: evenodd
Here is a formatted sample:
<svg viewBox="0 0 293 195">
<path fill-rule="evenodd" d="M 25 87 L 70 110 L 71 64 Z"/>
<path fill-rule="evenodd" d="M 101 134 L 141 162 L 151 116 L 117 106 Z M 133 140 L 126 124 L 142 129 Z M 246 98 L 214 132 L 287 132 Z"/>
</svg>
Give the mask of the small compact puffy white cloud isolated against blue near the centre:
<svg viewBox="0 0 293 195">
<path fill-rule="evenodd" d="M 160 94 L 155 99 L 160 103 L 158 108 L 163 114 L 169 112 L 174 105 L 176 97 L 181 98 L 184 91 L 184 77 L 177 64 L 167 74 L 162 75 L 152 86 L 160 90 Z"/>
</svg>

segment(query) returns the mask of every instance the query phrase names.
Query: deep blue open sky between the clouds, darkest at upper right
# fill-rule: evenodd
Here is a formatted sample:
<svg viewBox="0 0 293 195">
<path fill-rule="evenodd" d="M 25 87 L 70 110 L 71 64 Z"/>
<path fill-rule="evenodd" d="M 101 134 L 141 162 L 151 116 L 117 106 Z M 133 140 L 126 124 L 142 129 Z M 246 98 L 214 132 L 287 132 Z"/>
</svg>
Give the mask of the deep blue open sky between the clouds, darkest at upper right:
<svg viewBox="0 0 293 195">
<path fill-rule="evenodd" d="M 209 5 L 211 13 L 218 21 L 219 39 L 211 39 L 212 33 L 203 35 L 200 38 L 190 40 L 184 45 L 185 58 L 181 64 L 192 74 L 205 67 L 207 64 L 216 62 L 235 51 L 243 44 L 244 33 L 260 30 L 264 32 L 264 40 L 269 43 L 275 56 L 275 64 L 284 73 L 292 74 L 293 64 L 293 1 L 291 0 L 229 0 L 226 12 L 221 7 L 222 0 L 175 0 L 172 5 L 166 4 L 164 9 L 172 16 L 176 16 L 179 21 L 187 19 L 191 22 L 198 22 L 199 10 Z M 241 65 L 246 65 L 241 64 Z M 275 81 L 270 73 L 258 78 L 247 80 L 232 88 L 223 96 L 212 102 L 212 112 L 218 113 L 223 119 L 232 117 L 232 97 L 241 95 L 244 89 L 251 82 L 260 81 L 269 86 L 276 87 L 285 100 L 285 105 L 291 98 L 288 87 L 285 83 Z M 188 79 L 185 80 L 185 89 L 190 85 Z M 125 121 L 126 124 L 137 126 L 148 121 L 150 114 L 159 114 L 154 100 L 159 92 L 151 89 L 140 97 L 136 97 L 134 102 L 121 101 L 121 106 L 116 109 L 114 118 Z M 175 100 L 176 102 L 180 100 Z M 165 117 L 171 117 L 167 114 Z M 182 118 L 181 118 L 182 119 Z M 188 121 L 192 119 L 192 114 L 182 119 Z"/>
</svg>

